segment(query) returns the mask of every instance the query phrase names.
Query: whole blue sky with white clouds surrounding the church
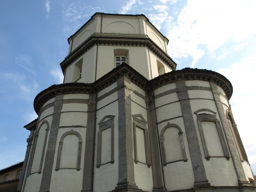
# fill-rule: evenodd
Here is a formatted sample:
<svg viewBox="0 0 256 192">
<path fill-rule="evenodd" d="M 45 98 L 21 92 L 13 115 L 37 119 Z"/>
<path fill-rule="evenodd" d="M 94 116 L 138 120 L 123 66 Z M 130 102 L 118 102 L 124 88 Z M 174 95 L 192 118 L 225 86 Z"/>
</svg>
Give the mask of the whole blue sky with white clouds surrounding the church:
<svg viewBox="0 0 256 192">
<path fill-rule="evenodd" d="M 177 69 L 218 71 L 233 84 L 232 111 L 256 174 L 256 1 L 11 0 L 0 6 L 0 169 L 25 157 L 40 91 L 62 82 L 70 37 L 95 12 L 141 14 L 169 39 Z"/>
</svg>

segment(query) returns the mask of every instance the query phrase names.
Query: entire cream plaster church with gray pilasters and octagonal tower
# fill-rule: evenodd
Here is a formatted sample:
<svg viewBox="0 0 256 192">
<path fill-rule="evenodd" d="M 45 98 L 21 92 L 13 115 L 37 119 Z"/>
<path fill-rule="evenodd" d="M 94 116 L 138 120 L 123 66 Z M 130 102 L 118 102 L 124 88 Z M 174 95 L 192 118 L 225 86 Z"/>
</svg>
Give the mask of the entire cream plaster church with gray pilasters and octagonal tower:
<svg viewBox="0 0 256 192">
<path fill-rule="evenodd" d="M 64 83 L 36 96 L 25 126 L 18 191 L 255 191 L 227 78 L 175 70 L 144 15 L 95 13 L 68 42 Z"/>
</svg>

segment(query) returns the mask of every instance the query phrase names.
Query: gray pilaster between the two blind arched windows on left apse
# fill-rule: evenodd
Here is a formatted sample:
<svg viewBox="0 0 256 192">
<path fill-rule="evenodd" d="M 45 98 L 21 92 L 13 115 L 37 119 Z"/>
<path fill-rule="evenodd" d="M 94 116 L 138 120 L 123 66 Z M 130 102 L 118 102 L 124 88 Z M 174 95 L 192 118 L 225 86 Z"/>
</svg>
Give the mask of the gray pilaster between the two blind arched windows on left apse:
<svg viewBox="0 0 256 192">
<path fill-rule="evenodd" d="M 52 116 L 52 125 L 50 128 L 48 147 L 45 155 L 45 165 L 43 168 L 43 176 L 42 176 L 42 181 L 40 185 L 40 192 L 49 192 L 49 189 L 50 189 L 54 154 L 56 149 L 58 127 L 60 125 L 62 106 L 63 106 L 63 94 L 57 95 L 54 101 L 54 112 Z"/>
</svg>

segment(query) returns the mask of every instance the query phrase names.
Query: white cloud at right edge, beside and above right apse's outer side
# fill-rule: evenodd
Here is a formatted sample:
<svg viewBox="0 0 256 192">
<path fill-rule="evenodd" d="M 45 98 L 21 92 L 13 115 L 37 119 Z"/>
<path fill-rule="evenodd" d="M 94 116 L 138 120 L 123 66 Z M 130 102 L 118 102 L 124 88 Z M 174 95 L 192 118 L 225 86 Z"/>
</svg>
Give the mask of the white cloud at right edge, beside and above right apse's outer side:
<svg viewBox="0 0 256 192">
<path fill-rule="evenodd" d="M 244 58 L 229 68 L 219 69 L 218 72 L 226 76 L 233 85 L 233 96 L 230 104 L 239 134 L 247 151 L 250 163 L 256 163 L 255 135 L 255 79 L 256 54 Z"/>
</svg>

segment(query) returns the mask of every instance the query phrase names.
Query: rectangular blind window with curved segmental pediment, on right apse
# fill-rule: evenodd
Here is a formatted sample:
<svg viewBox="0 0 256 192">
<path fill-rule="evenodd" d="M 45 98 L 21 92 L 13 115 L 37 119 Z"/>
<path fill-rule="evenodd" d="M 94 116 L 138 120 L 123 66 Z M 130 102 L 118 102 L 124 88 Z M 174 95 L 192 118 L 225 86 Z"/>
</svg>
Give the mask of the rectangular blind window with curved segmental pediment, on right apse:
<svg viewBox="0 0 256 192">
<path fill-rule="evenodd" d="M 225 157 L 229 160 L 229 151 L 216 112 L 198 109 L 194 114 L 197 116 L 205 158 L 210 160 L 211 157 Z"/>
</svg>

